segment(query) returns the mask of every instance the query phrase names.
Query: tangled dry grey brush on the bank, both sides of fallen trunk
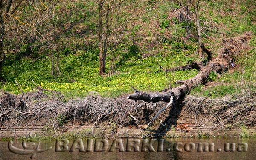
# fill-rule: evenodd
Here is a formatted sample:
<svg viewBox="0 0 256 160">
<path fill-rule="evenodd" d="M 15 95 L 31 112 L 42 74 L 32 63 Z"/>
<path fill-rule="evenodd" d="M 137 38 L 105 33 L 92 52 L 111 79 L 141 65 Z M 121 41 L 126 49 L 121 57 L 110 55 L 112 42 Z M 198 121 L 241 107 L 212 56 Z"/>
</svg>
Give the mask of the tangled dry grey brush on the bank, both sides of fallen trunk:
<svg viewBox="0 0 256 160">
<path fill-rule="evenodd" d="M 57 92 L 40 88 L 37 91 L 25 93 L 20 99 L 21 97 L 22 95 L 2 91 L 1 126 L 9 126 L 10 129 L 12 126 L 46 125 L 47 123 L 58 126 L 60 119 L 89 125 L 109 122 L 119 125 L 138 125 L 148 123 L 152 117 L 156 116 L 157 111 L 166 106 L 164 102 L 145 103 L 140 100 L 135 102 L 127 100 L 125 96 L 109 98 L 88 95 L 83 99 L 65 100 Z M 255 98 L 255 92 L 249 90 L 242 90 L 223 99 L 187 96 L 184 101 L 186 104 L 184 111 L 197 115 L 197 121 L 208 126 L 227 128 L 241 124 L 254 126 L 256 124 Z"/>
</svg>

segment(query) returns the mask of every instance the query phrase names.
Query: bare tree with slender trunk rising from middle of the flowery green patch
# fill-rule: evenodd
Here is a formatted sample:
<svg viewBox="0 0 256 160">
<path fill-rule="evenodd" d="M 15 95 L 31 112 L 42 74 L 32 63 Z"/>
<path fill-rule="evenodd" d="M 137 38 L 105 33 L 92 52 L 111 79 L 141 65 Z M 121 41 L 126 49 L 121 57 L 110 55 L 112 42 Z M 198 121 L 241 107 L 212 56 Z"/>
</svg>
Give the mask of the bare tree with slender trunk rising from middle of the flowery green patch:
<svg viewBox="0 0 256 160">
<path fill-rule="evenodd" d="M 161 0 L 155 3 L 151 7 L 146 7 L 141 11 L 138 9 L 139 4 L 142 3 L 142 0 L 134 1 L 124 1 L 124 0 L 96 0 L 99 7 L 99 74 L 105 74 L 106 68 L 106 56 L 109 44 L 109 38 L 112 34 L 117 34 L 124 28 L 124 26 L 133 20 L 135 17 L 144 14 L 147 11 L 150 11 L 158 4 L 162 3 L 164 0 Z M 126 6 L 134 6 L 130 11 L 130 15 L 128 17 L 123 17 L 125 20 L 120 22 L 119 16 L 122 14 L 122 7 L 124 3 L 127 3 Z M 124 15 L 125 16 L 125 15 Z M 127 16 L 127 15 L 126 15 Z M 115 40 L 114 40 L 115 41 Z M 114 44 L 116 46 L 116 42 Z"/>
</svg>

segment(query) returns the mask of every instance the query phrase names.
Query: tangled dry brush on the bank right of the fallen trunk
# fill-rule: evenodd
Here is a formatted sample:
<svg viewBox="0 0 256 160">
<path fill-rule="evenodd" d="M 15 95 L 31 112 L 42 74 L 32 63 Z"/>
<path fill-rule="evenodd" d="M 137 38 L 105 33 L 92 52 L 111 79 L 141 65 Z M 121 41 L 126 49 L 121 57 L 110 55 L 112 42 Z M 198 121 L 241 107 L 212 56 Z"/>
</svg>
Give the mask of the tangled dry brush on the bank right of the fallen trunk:
<svg viewBox="0 0 256 160">
<path fill-rule="evenodd" d="M 248 89 L 222 99 L 209 97 L 186 97 L 185 110 L 191 114 L 208 117 L 203 122 L 208 126 L 239 127 L 256 124 L 256 94 Z M 195 116 L 196 117 L 196 116 Z M 212 118 L 209 118 L 212 117 Z"/>
</svg>

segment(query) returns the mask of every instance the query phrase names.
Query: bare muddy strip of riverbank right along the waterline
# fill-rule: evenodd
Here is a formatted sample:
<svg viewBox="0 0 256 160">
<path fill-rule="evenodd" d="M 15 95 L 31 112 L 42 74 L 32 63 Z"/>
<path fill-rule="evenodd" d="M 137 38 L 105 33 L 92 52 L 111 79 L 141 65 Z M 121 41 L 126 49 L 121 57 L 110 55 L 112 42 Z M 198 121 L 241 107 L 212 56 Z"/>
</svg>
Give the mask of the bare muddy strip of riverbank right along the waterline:
<svg viewBox="0 0 256 160">
<path fill-rule="evenodd" d="M 212 129 L 209 127 L 189 126 L 189 130 L 184 130 L 178 125 L 177 128 L 170 130 L 164 138 L 256 138 L 256 127 L 249 129 Z M 2 128 L 0 140 L 5 139 L 29 139 L 29 133 L 41 140 L 54 140 L 56 138 L 152 138 L 155 136 L 153 130 L 143 130 L 135 126 L 81 126 L 65 125 L 62 130 L 56 133 L 44 131 L 44 126 L 20 126 L 7 131 Z"/>
</svg>

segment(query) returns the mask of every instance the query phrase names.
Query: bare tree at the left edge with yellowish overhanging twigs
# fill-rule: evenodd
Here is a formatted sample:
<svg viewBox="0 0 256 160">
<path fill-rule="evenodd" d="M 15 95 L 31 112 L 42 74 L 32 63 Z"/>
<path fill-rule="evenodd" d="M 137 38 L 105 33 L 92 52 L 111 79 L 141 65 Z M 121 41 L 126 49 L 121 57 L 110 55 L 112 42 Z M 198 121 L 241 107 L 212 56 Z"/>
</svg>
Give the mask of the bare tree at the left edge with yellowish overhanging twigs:
<svg viewBox="0 0 256 160">
<path fill-rule="evenodd" d="M 59 0 L 56 0 L 52 3 L 58 3 Z M 15 42 L 15 44 L 19 44 L 23 42 L 23 40 L 26 40 L 27 43 L 32 43 L 37 40 L 37 36 L 40 36 L 44 42 L 42 43 L 49 43 L 49 41 L 46 40 L 46 38 L 41 34 L 35 25 L 35 19 L 42 19 L 40 17 L 40 14 L 42 12 L 38 12 L 37 15 L 33 15 L 30 17 L 29 15 L 25 17 L 24 19 L 15 15 L 16 12 L 20 11 L 24 6 L 28 6 L 31 4 L 40 4 L 40 6 L 43 6 L 43 8 L 47 8 L 47 6 L 44 5 L 43 0 L 0 0 L 0 80 L 5 81 L 6 79 L 3 77 L 3 60 L 5 60 L 6 52 L 8 53 L 10 50 L 9 41 L 13 39 L 13 37 L 19 37 L 18 42 Z M 14 20 L 14 21 L 13 21 Z M 33 23 L 28 23 L 32 21 Z M 12 25 L 11 25 L 12 24 Z M 15 24 L 20 25 L 20 27 L 17 27 Z M 33 25 L 32 25 L 33 24 Z M 24 34 L 24 31 L 22 29 L 28 31 L 27 29 L 30 28 L 30 34 Z M 10 31 L 14 31 L 17 29 L 17 32 L 15 35 L 8 34 Z M 19 33 L 20 34 L 17 34 Z M 35 37 L 31 38 L 31 35 L 35 35 Z M 23 37 L 23 38 L 22 38 Z M 6 43 L 6 42 L 7 43 Z M 8 45 L 7 45 L 8 44 Z M 52 45 L 52 44 L 51 44 Z M 15 46 L 15 45 L 14 45 Z M 31 49 L 32 46 L 27 46 L 28 49 Z M 7 51 L 6 51 L 7 49 Z"/>
</svg>

